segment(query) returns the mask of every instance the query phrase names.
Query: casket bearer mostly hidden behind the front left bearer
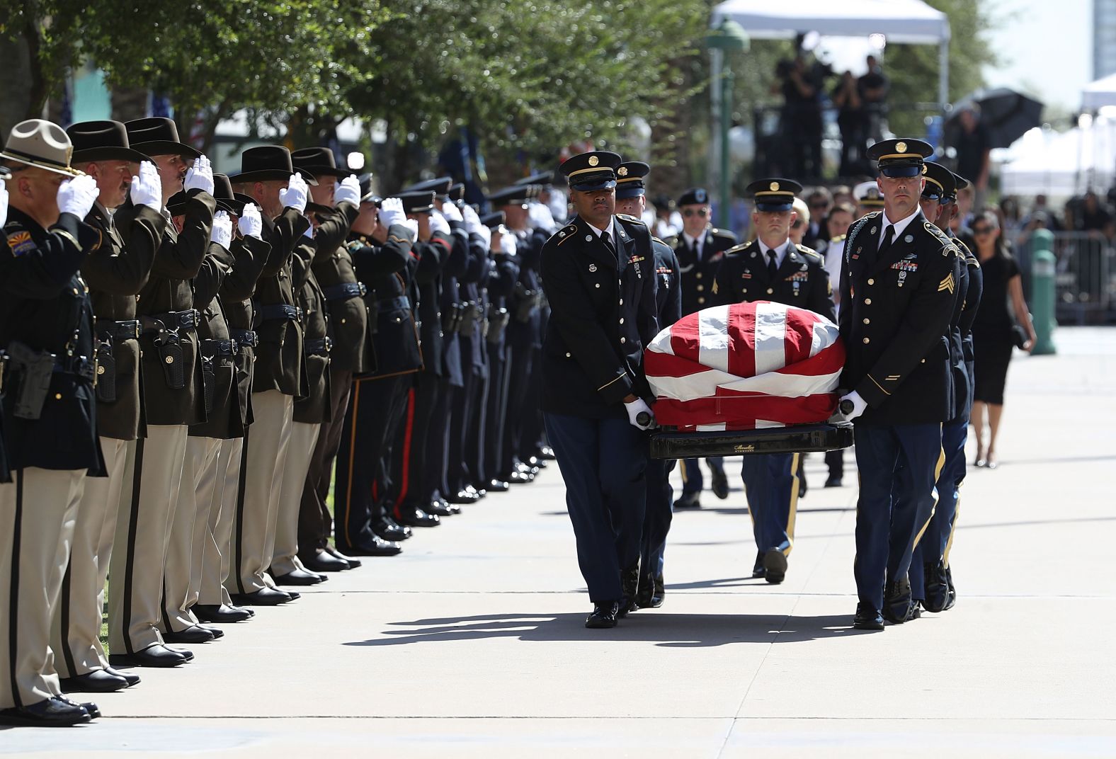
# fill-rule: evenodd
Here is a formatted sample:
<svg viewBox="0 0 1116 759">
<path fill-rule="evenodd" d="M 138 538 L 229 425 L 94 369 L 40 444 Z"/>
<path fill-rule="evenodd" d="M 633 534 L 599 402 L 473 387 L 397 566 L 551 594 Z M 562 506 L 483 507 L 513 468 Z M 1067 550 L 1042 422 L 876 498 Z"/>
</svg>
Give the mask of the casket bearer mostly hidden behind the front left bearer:
<svg viewBox="0 0 1116 759">
<path fill-rule="evenodd" d="M 616 212 L 625 218 L 642 219 L 647 208 L 645 179 L 651 165 L 643 161 L 625 161 L 616 170 Z M 674 249 L 652 236 L 655 252 L 655 315 L 658 328 L 666 329 L 682 318 L 682 291 L 679 288 L 679 259 Z M 641 608 L 663 605 L 663 555 L 671 529 L 674 488 L 671 487 L 673 459 L 647 459 L 647 500 L 639 548 Z"/>
</svg>

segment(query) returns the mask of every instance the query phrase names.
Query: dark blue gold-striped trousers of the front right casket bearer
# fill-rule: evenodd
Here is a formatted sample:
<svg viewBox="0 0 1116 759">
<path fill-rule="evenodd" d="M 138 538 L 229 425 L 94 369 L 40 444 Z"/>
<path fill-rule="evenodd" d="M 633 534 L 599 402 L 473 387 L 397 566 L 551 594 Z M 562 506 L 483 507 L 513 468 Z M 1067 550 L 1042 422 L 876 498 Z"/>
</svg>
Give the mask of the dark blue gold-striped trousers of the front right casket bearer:
<svg viewBox="0 0 1116 759">
<path fill-rule="evenodd" d="M 859 599 L 879 609 L 884 584 L 907 575 L 914 545 L 934 511 L 942 425 L 856 424 L 854 439 L 860 492 L 853 574 Z"/>
</svg>

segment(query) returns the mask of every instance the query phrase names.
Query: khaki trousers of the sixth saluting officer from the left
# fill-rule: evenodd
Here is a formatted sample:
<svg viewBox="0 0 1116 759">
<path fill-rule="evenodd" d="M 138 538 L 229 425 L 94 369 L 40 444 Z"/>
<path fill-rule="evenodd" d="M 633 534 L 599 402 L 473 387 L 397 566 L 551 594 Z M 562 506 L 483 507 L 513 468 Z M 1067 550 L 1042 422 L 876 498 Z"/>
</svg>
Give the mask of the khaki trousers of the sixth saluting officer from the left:
<svg viewBox="0 0 1116 759">
<path fill-rule="evenodd" d="M 252 395 L 256 421 L 244 436 L 247 450 L 241 462 L 244 493 L 233 532 L 232 570 L 225 580 L 231 593 L 256 593 L 275 587 L 267 570 L 275 549 L 279 494 L 294 412 L 295 398 L 277 390 Z"/>
</svg>

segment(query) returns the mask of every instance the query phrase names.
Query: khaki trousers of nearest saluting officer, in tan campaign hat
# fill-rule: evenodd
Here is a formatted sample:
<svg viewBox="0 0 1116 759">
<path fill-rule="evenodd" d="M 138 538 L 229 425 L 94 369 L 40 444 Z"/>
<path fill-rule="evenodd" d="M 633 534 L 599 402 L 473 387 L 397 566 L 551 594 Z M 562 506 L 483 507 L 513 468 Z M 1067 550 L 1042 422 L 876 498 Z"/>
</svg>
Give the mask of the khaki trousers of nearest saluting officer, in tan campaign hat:
<svg viewBox="0 0 1116 759">
<path fill-rule="evenodd" d="M 61 695 L 50 618 L 84 482 L 83 469 L 29 467 L 0 484 L 0 709 Z"/>
</svg>

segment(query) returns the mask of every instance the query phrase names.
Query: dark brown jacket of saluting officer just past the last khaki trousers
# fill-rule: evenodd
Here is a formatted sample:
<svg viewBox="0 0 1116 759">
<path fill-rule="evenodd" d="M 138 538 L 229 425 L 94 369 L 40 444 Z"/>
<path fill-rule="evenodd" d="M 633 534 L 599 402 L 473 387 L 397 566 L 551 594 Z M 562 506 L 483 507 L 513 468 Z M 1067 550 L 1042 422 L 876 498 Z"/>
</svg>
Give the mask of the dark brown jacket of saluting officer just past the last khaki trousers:
<svg viewBox="0 0 1116 759">
<path fill-rule="evenodd" d="M 318 214 L 314 233 L 314 277 L 326 298 L 336 369 L 363 372 L 368 359 L 368 309 L 360 298 L 353 258 L 345 247 L 349 225 L 360 213 L 352 203 L 340 203 L 333 213 Z"/>
</svg>

